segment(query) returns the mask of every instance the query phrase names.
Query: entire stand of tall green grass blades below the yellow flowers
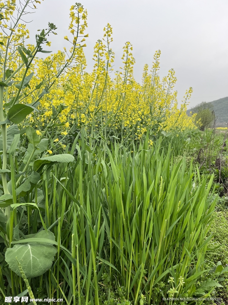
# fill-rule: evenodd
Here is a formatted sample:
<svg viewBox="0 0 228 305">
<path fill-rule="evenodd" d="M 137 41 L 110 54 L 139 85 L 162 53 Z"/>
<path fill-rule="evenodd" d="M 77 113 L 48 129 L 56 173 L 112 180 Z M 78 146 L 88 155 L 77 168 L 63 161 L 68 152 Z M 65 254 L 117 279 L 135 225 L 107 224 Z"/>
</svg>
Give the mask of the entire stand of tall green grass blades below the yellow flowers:
<svg viewBox="0 0 228 305">
<path fill-rule="evenodd" d="M 31 282 L 34 294 L 96 305 L 118 287 L 135 304 L 142 296 L 159 303 L 162 296 L 194 295 L 205 272 L 212 178 L 206 184 L 185 159 L 176 164 L 170 150 L 165 155 L 159 145 L 149 149 L 148 138 L 133 152 L 117 144 L 101 149 L 86 138 L 81 133 L 75 140 L 68 153 L 76 152 L 76 160 L 68 167 L 59 163 L 40 171 L 41 180 L 24 198 L 34 198 L 39 213 L 19 203 L 22 198 L 14 206 L 13 245 L 33 244 L 34 234 L 43 232 L 57 246 L 53 267 Z M 11 273 L 3 260 L 2 274 Z M 5 288 L 5 276 L 5 295 L 26 290 L 16 274 L 12 288 Z"/>
</svg>

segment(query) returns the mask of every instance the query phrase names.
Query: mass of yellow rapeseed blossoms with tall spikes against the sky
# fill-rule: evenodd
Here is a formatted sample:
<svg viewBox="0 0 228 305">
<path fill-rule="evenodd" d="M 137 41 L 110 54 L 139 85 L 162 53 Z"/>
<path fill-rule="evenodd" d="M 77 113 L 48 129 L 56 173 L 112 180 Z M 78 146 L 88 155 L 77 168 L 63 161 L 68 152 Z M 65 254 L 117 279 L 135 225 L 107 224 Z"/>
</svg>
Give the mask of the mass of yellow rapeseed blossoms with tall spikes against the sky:
<svg viewBox="0 0 228 305">
<path fill-rule="evenodd" d="M 13 10 L 15 1 L 11 2 Z M 133 46 L 126 42 L 123 47 L 123 66 L 112 79 L 115 54 L 110 48 L 113 39 L 109 23 L 104 28 L 103 40 L 98 40 L 94 47 L 94 69 L 91 73 L 86 72 L 83 47 L 85 38 L 88 37 L 84 33 L 87 11 L 80 3 L 72 5 L 70 10 L 69 30 L 73 37 L 69 54 L 64 48 L 64 51 L 58 51 L 46 59 L 35 58 L 29 67 L 34 77 L 23 88 L 19 102 L 36 105 L 39 112 L 31 114 L 27 123 L 32 123 L 42 131 L 54 113 L 59 112 L 55 123 L 61 126 L 62 132 L 67 132 L 75 124 L 78 129 L 85 128 L 91 135 L 122 139 L 141 139 L 148 129 L 155 135 L 162 129 L 195 128 L 194 116 L 188 117 L 186 114 L 192 88 L 186 91 L 184 101 L 178 108 L 177 92 L 173 90 L 177 81 L 174 70 L 169 70 L 168 76 L 162 81 L 159 77 L 160 50 L 155 52 L 150 72 L 148 65 L 144 66 L 142 84 L 139 84 L 133 77 Z M 29 32 L 23 24 L 18 24 L 17 33 L 15 31 L 11 35 L 11 39 L 18 39 L 25 54 L 34 48 L 26 45 L 28 37 Z M 67 36 L 64 38 L 70 41 Z M 11 50 L 10 46 L 9 50 L 14 57 L 10 59 L 12 65 L 9 69 L 15 71 L 23 58 L 17 50 Z M 1 45 L 2 58 L 5 52 L 5 46 Z M 64 69 L 65 73 L 62 73 Z M 21 81 L 23 73 L 24 70 L 21 69 L 15 74 L 15 84 L 8 90 L 9 99 L 15 96 L 15 86 Z M 152 144 L 153 142 L 150 143 Z"/>
</svg>

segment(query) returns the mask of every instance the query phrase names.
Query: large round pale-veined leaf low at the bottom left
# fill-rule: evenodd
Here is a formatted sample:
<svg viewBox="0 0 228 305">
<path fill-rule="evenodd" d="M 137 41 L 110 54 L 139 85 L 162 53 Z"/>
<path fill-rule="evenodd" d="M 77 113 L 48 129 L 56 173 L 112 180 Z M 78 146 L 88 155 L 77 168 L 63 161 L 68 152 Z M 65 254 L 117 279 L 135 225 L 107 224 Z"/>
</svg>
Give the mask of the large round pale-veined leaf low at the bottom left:
<svg viewBox="0 0 228 305">
<path fill-rule="evenodd" d="M 38 232 L 33 239 L 34 240 L 47 239 L 55 240 L 55 236 L 52 232 L 41 231 Z M 50 245 L 47 242 L 33 242 L 25 245 L 14 245 L 12 248 L 8 248 L 5 252 L 5 260 L 9 264 L 9 267 L 17 275 L 21 276 L 19 267 L 16 261 L 16 257 L 20 262 L 22 269 L 27 278 L 34 278 L 45 273 L 52 266 L 54 256 L 57 252 L 57 248 Z"/>
</svg>

